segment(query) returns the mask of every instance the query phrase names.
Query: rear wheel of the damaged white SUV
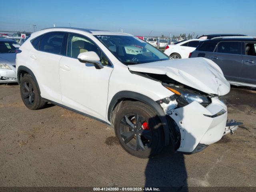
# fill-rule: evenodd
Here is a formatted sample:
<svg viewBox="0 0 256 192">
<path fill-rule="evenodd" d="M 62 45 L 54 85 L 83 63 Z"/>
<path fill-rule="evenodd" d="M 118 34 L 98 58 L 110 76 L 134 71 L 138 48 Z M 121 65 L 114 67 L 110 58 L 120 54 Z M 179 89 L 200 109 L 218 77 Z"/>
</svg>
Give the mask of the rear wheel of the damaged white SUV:
<svg viewBox="0 0 256 192">
<path fill-rule="evenodd" d="M 20 81 L 20 95 L 25 106 L 31 110 L 42 109 L 46 104 L 40 96 L 34 79 L 29 74 L 25 74 Z"/>
</svg>

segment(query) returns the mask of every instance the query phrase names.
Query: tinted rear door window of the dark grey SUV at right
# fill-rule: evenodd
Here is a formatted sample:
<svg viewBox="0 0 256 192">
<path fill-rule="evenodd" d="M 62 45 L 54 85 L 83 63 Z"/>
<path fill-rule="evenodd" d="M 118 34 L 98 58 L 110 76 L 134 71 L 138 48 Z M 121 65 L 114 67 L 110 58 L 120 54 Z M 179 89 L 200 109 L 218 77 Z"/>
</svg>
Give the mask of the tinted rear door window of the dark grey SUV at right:
<svg viewBox="0 0 256 192">
<path fill-rule="evenodd" d="M 217 47 L 218 53 L 241 54 L 241 42 L 220 42 Z"/>
</svg>

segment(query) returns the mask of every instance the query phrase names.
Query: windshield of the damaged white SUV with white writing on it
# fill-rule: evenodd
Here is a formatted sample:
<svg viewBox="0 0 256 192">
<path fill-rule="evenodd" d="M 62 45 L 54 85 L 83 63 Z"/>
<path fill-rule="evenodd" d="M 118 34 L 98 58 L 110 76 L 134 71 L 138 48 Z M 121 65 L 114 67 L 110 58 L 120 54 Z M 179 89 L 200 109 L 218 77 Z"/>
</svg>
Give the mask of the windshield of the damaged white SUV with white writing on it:
<svg viewBox="0 0 256 192">
<path fill-rule="evenodd" d="M 96 35 L 124 64 L 140 64 L 170 59 L 152 45 L 134 36 Z"/>
</svg>

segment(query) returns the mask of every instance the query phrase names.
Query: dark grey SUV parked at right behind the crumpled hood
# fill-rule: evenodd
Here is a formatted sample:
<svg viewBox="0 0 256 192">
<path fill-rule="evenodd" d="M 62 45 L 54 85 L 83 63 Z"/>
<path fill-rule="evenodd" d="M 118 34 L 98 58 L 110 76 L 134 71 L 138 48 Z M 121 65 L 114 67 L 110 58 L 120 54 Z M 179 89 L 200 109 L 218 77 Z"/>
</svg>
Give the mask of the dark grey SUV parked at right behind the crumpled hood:
<svg viewBox="0 0 256 192">
<path fill-rule="evenodd" d="M 230 84 L 256 87 L 255 37 L 220 37 L 206 40 L 190 57 L 204 57 L 214 61 Z"/>
</svg>

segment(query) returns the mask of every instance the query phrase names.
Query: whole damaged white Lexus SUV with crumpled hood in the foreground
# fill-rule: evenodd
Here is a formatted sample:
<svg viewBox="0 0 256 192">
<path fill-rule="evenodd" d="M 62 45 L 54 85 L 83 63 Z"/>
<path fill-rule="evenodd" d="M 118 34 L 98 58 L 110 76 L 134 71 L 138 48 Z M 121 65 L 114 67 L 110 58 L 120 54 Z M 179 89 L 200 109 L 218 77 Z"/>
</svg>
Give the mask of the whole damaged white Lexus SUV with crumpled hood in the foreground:
<svg viewBox="0 0 256 192">
<path fill-rule="evenodd" d="M 78 28 L 35 32 L 18 52 L 17 79 L 29 109 L 51 102 L 102 120 L 140 158 L 166 145 L 199 152 L 239 124 L 227 122 L 218 99 L 229 83 L 205 58 L 170 60 L 130 34 Z"/>
</svg>

